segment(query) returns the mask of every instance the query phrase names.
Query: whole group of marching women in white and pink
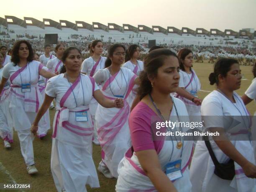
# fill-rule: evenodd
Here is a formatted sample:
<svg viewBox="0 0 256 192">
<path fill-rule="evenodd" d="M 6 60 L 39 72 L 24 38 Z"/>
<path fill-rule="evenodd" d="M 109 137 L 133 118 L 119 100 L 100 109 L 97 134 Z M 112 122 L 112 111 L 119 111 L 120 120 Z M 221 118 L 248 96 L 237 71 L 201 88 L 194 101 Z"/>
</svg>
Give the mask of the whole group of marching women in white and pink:
<svg viewBox="0 0 256 192">
<path fill-rule="evenodd" d="M 11 62 L 0 66 L 0 136 L 5 147 L 10 147 L 14 127 L 29 174 L 38 172 L 33 134 L 46 136 L 49 107 L 55 100 L 51 172 L 59 192 L 85 192 L 86 184 L 100 187 L 92 142 L 102 149 L 98 171 L 118 179 L 118 192 L 256 191 L 255 149 L 248 134 L 255 126 L 250 126 L 250 118 L 242 122 L 247 141 L 238 141 L 239 133 L 222 135 L 222 141 L 212 137 L 210 145 L 171 136 L 156 141 L 151 129 L 153 116 L 158 121 L 192 121 L 189 117 L 201 119 L 201 114 L 202 118 L 249 116 L 245 104 L 256 99 L 256 81 L 241 99 L 235 92 L 241 86 L 236 60 L 215 63 L 209 80 L 216 83 L 216 90 L 201 101 L 197 97 L 201 85 L 188 49 L 176 55 L 152 48 L 142 62 L 137 59 L 138 45 L 126 51 L 123 45 L 114 44 L 105 58 L 102 42 L 95 40 L 91 57 L 82 62 L 75 47 L 64 50 L 57 45 L 56 58 L 48 48 L 38 62 L 30 43 L 18 41 Z M 5 60 L 0 54 L 0 63 Z M 225 122 L 206 119 L 204 126 L 220 132 L 227 128 Z M 227 176 L 223 169 L 230 164 Z"/>
</svg>

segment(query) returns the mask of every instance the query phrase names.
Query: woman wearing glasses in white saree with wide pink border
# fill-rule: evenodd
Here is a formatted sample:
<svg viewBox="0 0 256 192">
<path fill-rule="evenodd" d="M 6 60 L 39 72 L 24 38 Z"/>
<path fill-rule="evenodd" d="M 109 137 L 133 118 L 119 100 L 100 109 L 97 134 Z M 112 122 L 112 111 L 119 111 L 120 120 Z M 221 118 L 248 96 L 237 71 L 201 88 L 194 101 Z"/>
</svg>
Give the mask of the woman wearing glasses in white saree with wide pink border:
<svg viewBox="0 0 256 192">
<path fill-rule="evenodd" d="M 118 164 L 125 152 L 131 147 L 131 136 L 128 126 L 130 107 L 126 99 L 133 94 L 136 75 L 128 68 L 123 68 L 125 47 L 114 44 L 108 50 L 105 68 L 99 70 L 93 78 L 101 83 L 102 93 L 109 99 L 124 100 L 122 109 L 106 109 L 98 105 L 95 119 L 98 138 L 102 148 L 102 161 L 98 170 L 105 177 L 118 177 Z"/>
</svg>

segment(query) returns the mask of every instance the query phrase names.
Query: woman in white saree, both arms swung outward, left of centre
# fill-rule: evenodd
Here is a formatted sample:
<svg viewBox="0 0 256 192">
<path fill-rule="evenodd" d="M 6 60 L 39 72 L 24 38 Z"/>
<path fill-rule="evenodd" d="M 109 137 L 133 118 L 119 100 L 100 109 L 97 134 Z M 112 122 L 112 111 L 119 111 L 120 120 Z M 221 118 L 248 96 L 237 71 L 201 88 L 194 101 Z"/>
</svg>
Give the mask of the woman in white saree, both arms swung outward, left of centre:
<svg viewBox="0 0 256 192">
<path fill-rule="evenodd" d="M 86 192 L 86 184 L 100 187 L 92 159 L 93 122 L 89 110 L 92 96 L 107 108 L 121 108 L 123 101 L 106 99 L 94 79 L 80 73 L 82 55 L 79 49 L 67 48 L 62 61 L 65 68 L 47 82 L 44 104 L 31 131 L 36 134 L 39 120 L 55 98 L 51 151 L 51 172 L 55 186 L 58 192 Z"/>
</svg>

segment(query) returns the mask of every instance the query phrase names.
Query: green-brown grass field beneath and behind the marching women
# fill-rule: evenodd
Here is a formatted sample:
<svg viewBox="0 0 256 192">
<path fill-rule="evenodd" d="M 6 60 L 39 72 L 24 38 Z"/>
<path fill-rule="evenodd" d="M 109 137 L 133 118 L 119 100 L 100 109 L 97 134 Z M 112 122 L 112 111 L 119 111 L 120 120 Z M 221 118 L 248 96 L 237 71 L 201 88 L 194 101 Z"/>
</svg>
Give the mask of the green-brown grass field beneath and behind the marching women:
<svg viewBox="0 0 256 192">
<path fill-rule="evenodd" d="M 194 63 L 194 69 L 199 77 L 202 90 L 199 93 L 200 98 L 204 98 L 208 92 L 215 89 L 215 86 L 210 86 L 208 81 L 209 74 L 213 71 L 212 64 L 209 63 Z M 242 81 L 241 88 L 237 91 L 239 95 L 243 95 L 248 86 L 251 84 L 253 75 L 251 73 L 251 66 L 241 66 L 244 78 L 247 80 Z M 248 110 L 251 114 L 256 111 L 256 105 L 251 102 L 248 106 Z M 54 110 L 50 110 L 51 122 L 54 118 Z M 20 117 L 22 118 L 22 117 Z M 49 131 L 48 135 L 44 140 L 35 138 L 33 142 L 34 146 L 34 156 L 36 167 L 38 169 L 38 174 L 30 176 L 27 174 L 26 165 L 24 163 L 23 157 L 20 152 L 20 144 L 18 141 L 18 136 L 14 133 L 14 143 L 10 150 L 4 149 L 3 142 L 0 144 L 0 183 L 11 183 L 10 177 L 5 173 L 8 170 L 11 177 L 17 183 L 30 183 L 32 188 L 30 191 L 36 192 L 54 192 L 56 191 L 53 178 L 51 176 L 50 169 L 50 158 L 51 158 L 51 134 L 52 129 Z M 96 165 L 100 162 L 100 146 L 93 145 L 93 159 Z M 5 170 L 1 169 L 1 164 L 5 167 Z M 2 166 L 2 167 L 3 167 Z M 102 174 L 98 172 L 98 177 L 100 179 L 100 188 L 90 189 L 87 187 L 88 192 L 113 192 L 115 191 L 116 179 L 107 179 Z"/>
</svg>

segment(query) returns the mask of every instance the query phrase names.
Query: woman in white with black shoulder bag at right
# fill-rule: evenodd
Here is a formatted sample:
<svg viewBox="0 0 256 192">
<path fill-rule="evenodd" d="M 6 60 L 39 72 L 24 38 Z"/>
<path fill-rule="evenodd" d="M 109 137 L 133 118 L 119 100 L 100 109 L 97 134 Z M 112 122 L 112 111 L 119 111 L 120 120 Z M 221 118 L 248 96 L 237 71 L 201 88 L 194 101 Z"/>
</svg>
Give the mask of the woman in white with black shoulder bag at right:
<svg viewBox="0 0 256 192">
<path fill-rule="evenodd" d="M 197 141 L 190 166 L 192 192 L 254 192 L 256 166 L 249 136 L 251 120 L 235 92 L 241 86 L 238 61 L 220 59 L 209 80 L 217 87 L 202 102 L 202 120 L 205 131 L 217 131 L 219 136 L 205 138 L 210 143 Z"/>
</svg>

